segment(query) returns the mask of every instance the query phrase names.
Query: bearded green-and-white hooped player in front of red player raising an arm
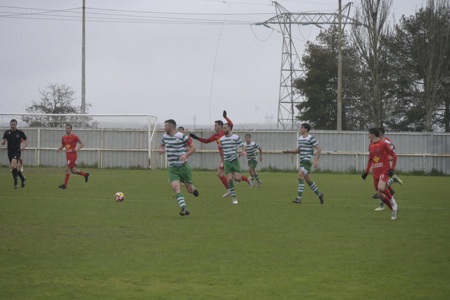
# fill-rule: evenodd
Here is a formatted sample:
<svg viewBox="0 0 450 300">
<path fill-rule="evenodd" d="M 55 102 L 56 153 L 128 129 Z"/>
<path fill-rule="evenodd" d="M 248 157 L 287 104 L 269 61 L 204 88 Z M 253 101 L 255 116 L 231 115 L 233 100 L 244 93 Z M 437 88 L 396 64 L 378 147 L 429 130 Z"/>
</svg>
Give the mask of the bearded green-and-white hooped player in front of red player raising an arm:
<svg viewBox="0 0 450 300">
<path fill-rule="evenodd" d="M 234 180 L 240 182 L 242 180 L 241 164 L 239 164 L 238 159 L 238 145 L 242 147 L 242 155 L 247 155 L 245 152 L 245 145 L 241 141 L 241 138 L 235 134 L 231 133 L 231 128 L 228 123 L 225 123 L 222 127 L 225 136 L 220 137 L 220 145 L 222 146 L 224 154 L 224 169 L 225 176 L 228 180 L 229 191 L 233 197 L 233 203 L 238 204 L 236 199 L 236 193 L 234 192 Z M 249 180 L 252 182 L 252 180 Z M 253 182 L 252 182 L 253 183 Z M 250 185 L 251 187 L 253 184 Z"/>
</svg>

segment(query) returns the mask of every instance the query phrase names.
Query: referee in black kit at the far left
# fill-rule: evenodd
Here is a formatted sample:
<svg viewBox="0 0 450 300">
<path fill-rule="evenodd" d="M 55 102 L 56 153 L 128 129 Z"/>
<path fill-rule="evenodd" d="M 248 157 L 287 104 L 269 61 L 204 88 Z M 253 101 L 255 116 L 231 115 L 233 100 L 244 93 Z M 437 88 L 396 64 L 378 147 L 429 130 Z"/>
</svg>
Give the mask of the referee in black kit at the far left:
<svg viewBox="0 0 450 300">
<path fill-rule="evenodd" d="M 20 151 L 25 150 L 25 147 L 27 146 L 27 136 L 25 136 L 25 133 L 22 130 L 18 130 L 17 127 L 17 121 L 15 119 L 12 119 L 11 122 L 9 122 L 9 126 L 11 126 L 11 129 L 8 129 L 3 134 L 3 140 L 1 141 L 1 144 L 4 145 L 8 141 L 8 158 L 9 162 L 11 163 L 11 169 L 13 170 L 13 177 L 14 177 L 14 188 L 17 189 L 19 186 L 17 184 L 17 176 L 20 177 L 20 180 L 22 181 L 21 187 L 25 186 L 25 180 L 27 178 L 23 177 L 22 172 L 20 172 L 20 169 L 18 167 L 17 162 L 20 159 Z M 20 147 L 20 139 L 23 138 L 22 148 Z"/>
</svg>

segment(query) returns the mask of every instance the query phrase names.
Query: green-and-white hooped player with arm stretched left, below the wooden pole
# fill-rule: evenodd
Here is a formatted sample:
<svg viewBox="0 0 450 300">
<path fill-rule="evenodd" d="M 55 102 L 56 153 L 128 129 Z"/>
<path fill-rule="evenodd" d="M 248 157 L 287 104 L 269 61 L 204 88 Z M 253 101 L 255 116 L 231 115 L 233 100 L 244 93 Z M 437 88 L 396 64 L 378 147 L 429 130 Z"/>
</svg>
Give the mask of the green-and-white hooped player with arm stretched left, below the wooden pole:
<svg viewBox="0 0 450 300">
<path fill-rule="evenodd" d="M 311 190 L 315 192 L 316 195 L 319 196 L 320 204 L 324 204 L 324 193 L 319 191 L 315 183 L 311 180 L 311 166 L 314 165 L 314 168 L 318 167 L 317 161 L 320 156 L 320 145 L 319 142 L 315 140 L 314 136 L 309 134 L 311 130 L 311 126 L 308 123 L 303 123 L 300 126 L 300 133 L 302 134 L 298 138 L 298 146 L 296 150 L 283 150 L 283 153 L 300 153 L 300 171 L 298 171 L 298 194 L 297 198 L 292 200 L 294 203 L 302 203 L 302 193 L 305 188 L 305 180 L 306 183 L 311 187 Z M 314 155 L 314 149 L 317 149 L 317 154 L 315 156 L 315 160 L 312 160 Z"/>
</svg>

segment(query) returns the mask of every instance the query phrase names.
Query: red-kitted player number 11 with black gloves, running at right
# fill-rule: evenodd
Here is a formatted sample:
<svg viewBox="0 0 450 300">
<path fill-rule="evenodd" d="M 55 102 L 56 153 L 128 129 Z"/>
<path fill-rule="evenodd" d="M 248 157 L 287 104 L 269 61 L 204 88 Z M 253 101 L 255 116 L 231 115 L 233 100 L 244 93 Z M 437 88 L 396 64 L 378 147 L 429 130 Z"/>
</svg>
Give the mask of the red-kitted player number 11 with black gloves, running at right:
<svg viewBox="0 0 450 300">
<path fill-rule="evenodd" d="M 365 180 L 369 173 L 370 166 L 373 165 L 372 174 L 374 176 L 375 190 L 378 198 L 382 200 L 392 210 L 392 220 L 397 218 L 397 203 L 391 193 L 386 188 L 389 177 L 394 174 L 395 165 L 397 163 L 397 155 L 394 150 L 384 141 L 380 140 L 380 130 L 376 127 L 369 129 L 369 160 L 367 168 L 362 174 Z M 389 155 L 392 156 L 392 168 L 389 162 Z"/>
</svg>

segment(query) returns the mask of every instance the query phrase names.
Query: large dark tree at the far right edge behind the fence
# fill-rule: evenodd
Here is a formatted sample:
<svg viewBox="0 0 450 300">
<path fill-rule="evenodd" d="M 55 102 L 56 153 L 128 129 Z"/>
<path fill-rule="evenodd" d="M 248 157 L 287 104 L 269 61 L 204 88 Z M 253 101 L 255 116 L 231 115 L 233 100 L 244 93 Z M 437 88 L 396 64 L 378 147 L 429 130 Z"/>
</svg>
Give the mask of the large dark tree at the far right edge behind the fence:
<svg viewBox="0 0 450 300">
<path fill-rule="evenodd" d="M 414 99 L 410 105 L 423 111 L 428 132 L 435 129 L 438 119 L 448 118 L 449 19 L 449 0 L 428 0 L 425 8 L 415 16 L 402 16 L 396 26 L 394 52 L 400 62 L 399 76 Z"/>
</svg>

